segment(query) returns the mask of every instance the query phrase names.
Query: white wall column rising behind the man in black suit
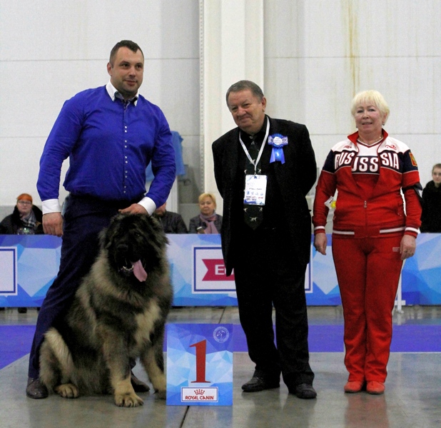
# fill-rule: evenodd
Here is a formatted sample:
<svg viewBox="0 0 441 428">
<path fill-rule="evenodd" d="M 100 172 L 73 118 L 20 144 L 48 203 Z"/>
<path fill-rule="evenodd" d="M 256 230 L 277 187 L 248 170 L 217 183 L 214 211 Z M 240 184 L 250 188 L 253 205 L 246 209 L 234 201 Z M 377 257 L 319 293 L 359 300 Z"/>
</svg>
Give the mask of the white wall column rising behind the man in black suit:
<svg viewBox="0 0 441 428">
<path fill-rule="evenodd" d="M 246 79 L 263 89 L 263 0 L 200 0 L 200 47 L 203 188 L 216 194 L 221 213 L 211 143 L 235 127 L 228 88 Z"/>
</svg>

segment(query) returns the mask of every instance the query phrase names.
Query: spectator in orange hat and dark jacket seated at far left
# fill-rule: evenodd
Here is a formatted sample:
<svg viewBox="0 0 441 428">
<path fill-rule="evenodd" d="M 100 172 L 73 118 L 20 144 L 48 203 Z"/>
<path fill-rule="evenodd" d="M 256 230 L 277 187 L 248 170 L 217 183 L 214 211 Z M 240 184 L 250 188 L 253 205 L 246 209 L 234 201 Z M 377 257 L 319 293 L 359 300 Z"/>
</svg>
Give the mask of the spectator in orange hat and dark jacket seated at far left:
<svg viewBox="0 0 441 428">
<path fill-rule="evenodd" d="M 40 208 L 32 204 L 29 193 L 21 193 L 12 214 L 6 215 L 0 223 L 0 234 L 3 235 L 36 235 L 43 232 Z M 19 313 L 26 314 L 27 307 L 17 308 Z"/>
</svg>

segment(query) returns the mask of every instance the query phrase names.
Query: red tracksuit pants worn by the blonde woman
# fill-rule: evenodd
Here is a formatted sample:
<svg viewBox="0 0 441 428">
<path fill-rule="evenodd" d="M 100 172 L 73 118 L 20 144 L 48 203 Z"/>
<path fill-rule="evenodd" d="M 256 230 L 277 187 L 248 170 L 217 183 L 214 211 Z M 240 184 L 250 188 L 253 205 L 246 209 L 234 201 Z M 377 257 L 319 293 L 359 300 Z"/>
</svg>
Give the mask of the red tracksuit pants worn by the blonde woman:
<svg viewBox="0 0 441 428">
<path fill-rule="evenodd" d="M 385 382 L 392 310 L 402 268 L 401 239 L 401 235 L 333 235 L 333 258 L 345 319 L 345 366 L 350 381 Z"/>
</svg>

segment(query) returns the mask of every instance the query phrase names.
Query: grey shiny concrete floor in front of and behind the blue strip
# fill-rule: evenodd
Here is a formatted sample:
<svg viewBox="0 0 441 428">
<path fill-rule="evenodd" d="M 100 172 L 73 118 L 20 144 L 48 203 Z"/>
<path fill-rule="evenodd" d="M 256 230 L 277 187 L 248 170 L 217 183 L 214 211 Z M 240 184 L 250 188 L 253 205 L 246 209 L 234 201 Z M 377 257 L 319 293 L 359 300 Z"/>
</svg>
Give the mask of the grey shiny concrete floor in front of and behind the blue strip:
<svg viewBox="0 0 441 428">
<path fill-rule="evenodd" d="M 310 325 L 339 325 L 340 307 L 310 307 Z M 34 325 L 36 310 L 18 314 L 0 312 L 0 325 Z M 174 308 L 168 322 L 238 323 L 235 307 Z M 403 307 L 394 323 L 441 324 L 441 307 Z M 441 340 L 441 338 L 440 338 Z M 0 351 L 1 352 L 1 351 Z M 133 409 L 116 407 L 111 396 L 62 399 L 26 397 L 28 355 L 0 370 L 0 427 L 325 427 L 325 428 L 427 428 L 441 427 L 441 353 L 393 352 L 384 395 L 364 392 L 345 394 L 348 374 L 342 352 L 313 352 L 318 398 L 298 399 L 280 389 L 245 394 L 240 386 L 250 379 L 253 364 L 244 352 L 233 360 L 233 406 L 167 406 L 152 394 L 140 394 L 144 405 Z M 134 372 L 146 379 L 141 365 Z"/>
</svg>

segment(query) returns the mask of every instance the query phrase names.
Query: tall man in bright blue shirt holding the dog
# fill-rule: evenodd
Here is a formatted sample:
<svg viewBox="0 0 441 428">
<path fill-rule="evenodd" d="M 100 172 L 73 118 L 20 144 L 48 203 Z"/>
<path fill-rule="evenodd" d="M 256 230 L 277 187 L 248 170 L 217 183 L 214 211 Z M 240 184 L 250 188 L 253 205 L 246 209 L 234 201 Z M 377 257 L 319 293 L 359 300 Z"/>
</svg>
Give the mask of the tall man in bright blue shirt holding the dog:
<svg viewBox="0 0 441 428">
<path fill-rule="evenodd" d="M 46 292 L 29 357 L 26 395 L 46 398 L 39 381 L 44 333 L 66 311 L 98 254 L 98 233 L 116 213 L 153 214 L 168 198 L 176 176 L 171 131 L 163 112 L 143 96 L 144 56 L 133 41 L 113 47 L 106 86 L 87 89 L 64 103 L 44 146 L 37 189 L 43 228 L 63 236 L 59 273 Z M 63 215 L 60 172 L 69 157 Z M 146 193 L 146 167 L 155 178 Z M 147 385 L 132 377 L 135 390 Z M 146 389 L 144 389 L 146 390 Z"/>
</svg>

